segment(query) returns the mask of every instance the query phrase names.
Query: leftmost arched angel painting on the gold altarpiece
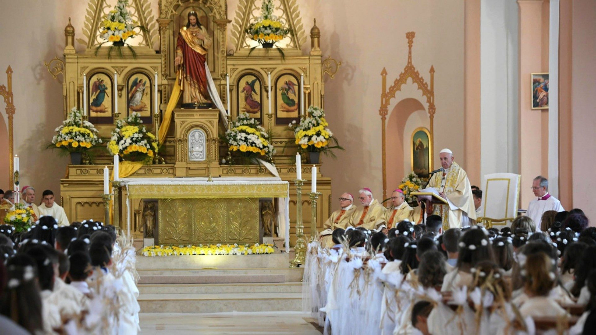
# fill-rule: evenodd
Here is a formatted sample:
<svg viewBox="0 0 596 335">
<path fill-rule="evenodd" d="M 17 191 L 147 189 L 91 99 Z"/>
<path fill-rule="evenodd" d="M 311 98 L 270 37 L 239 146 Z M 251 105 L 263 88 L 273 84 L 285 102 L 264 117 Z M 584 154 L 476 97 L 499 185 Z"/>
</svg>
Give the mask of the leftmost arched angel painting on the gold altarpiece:
<svg viewBox="0 0 596 335">
<path fill-rule="evenodd" d="M 114 123 L 114 86 L 107 72 L 97 72 L 88 76 L 89 122 L 98 125 Z"/>
</svg>

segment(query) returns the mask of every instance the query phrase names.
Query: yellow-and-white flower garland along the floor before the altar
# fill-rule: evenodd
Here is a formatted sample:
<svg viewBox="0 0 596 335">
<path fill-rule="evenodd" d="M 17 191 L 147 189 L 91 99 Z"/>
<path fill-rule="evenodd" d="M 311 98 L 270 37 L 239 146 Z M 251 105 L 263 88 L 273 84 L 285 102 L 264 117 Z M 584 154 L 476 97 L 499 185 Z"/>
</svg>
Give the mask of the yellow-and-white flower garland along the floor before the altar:
<svg viewBox="0 0 596 335">
<path fill-rule="evenodd" d="M 272 244 L 209 244 L 203 246 L 148 246 L 141 250 L 141 255 L 156 256 L 191 256 L 191 255 L 269 255 L 274 253 Z"/>
</svg>

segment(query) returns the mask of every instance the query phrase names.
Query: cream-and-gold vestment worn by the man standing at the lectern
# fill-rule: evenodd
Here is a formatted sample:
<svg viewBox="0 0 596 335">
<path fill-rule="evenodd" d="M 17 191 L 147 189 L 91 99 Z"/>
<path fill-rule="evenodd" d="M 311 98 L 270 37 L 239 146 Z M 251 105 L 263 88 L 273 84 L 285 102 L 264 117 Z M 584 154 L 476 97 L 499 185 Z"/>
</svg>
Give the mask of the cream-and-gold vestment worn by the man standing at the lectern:
<svg viewBox="0 0 596 335">
<path fill-rule="evenodd" d="M 476 209 L 470 181 L 465 170 L 457 163 L 453 162 L 444 175 L 435 173 L 430 178 L 429 187 L 434 187 L 439 192 L 445 193 L 448 200 L 457 207 L 457 209 L 452 210 L 448 205 L 433 205 L 433 214 L 440 215 L 443 218 L 444 230 L 461 228 L 464 213 L 468 218 L 476 220 Z"/>
</svg>

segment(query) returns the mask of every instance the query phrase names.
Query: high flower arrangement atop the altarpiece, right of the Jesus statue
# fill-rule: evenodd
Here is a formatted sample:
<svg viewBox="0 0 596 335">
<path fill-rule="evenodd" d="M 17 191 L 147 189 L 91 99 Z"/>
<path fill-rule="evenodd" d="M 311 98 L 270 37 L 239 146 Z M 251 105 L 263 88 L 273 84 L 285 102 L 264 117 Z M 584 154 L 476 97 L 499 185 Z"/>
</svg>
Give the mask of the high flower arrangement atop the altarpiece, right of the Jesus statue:
<svg viewBox="0 0 596 335">
<path fill-rule="evenodd" d="M 249 37 L 259 42 L 263 48 L 273 48 L 276 42 L 284 39 L 290 32 L 290 29 L 284 27 L 285 23 L 281 18 L 273 15 L 273 10 L 273 0 L 263 0 L 261 15 L 246 29 Z"/>
</svg>

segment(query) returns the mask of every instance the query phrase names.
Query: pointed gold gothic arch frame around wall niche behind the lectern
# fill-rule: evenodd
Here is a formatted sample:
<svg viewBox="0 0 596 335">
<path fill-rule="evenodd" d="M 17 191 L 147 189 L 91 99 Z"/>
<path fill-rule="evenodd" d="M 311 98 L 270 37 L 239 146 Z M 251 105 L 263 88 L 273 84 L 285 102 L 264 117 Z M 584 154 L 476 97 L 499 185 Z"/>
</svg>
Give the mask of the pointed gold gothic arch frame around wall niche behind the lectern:
<svg viewBox="0 0 596 335">
<path fill-rule="evenodd" d="M 424 78 L 420 75 L 416 67 L 412 64 L 412 45 L 414 44 L 414 36 L 416 35 L 415 32 L 407 32 L 406 38 L 408 39 L 408 64 L 403 68 L 402 73 L 399 74 L 399 77 L 393 81 L 393 85 L 387 89 L 387 70 L 383 68 L 381 71 L 381 85 L 382 85 L 382 92 L 381 92 L 381 107 L 378 110 L 379 115 L 381 116 L 381 157 L 383 157 L 383 199 L 387 198 L 387 161 L 386 161 L 386 142 L 385 142 L 385 134 L 386 134 L 386 120 L 387 120 L 387 113 L 389 113 L 389 104 L 392 98 L 395 98 L 395 94 L 398 91 L 401 91 L 402 86 L 408 81 L 408 79 L 412 79 L 416 85 L 418 85 L 418 89 L 422 91 L 422 95 L 426 97 L 426 103 L 428 105 L 429 111 L 429 119 L 430 119 L 430 139 L 434 141 L 434 127 L 433 127 L 433 119 L 434 113 L 436 112 L 436 108 L 434 107 L 434 67 L 430 66 L 430 87 L 429 83 L 424 80 Z M 431 148 L 434 145 L 431 144 Z M 432 149 L 430 150 L 430 156 L 433 156 Z M 432 167 L 431 167 L 432 168 Z"/>
</svg>

